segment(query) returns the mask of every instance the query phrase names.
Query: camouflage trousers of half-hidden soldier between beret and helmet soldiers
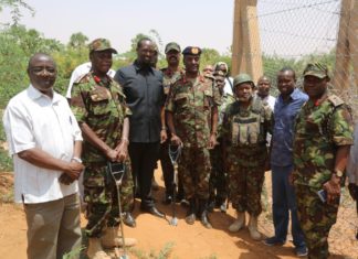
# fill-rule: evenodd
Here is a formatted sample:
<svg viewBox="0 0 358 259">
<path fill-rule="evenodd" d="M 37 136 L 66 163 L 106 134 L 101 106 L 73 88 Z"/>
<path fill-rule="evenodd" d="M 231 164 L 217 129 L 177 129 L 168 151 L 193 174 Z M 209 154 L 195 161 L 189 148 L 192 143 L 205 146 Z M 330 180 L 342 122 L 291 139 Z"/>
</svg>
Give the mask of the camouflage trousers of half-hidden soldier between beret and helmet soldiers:
<svg viewBox="0 0 358 259">
<path fill-rule="evenodd" d="M 211 201 L 223 203 L 228 197 L 228 181 L 224 172 L 221 145 L 210 150 L 211 172 L 209 180 L 209 195 Z"/>
</svg>

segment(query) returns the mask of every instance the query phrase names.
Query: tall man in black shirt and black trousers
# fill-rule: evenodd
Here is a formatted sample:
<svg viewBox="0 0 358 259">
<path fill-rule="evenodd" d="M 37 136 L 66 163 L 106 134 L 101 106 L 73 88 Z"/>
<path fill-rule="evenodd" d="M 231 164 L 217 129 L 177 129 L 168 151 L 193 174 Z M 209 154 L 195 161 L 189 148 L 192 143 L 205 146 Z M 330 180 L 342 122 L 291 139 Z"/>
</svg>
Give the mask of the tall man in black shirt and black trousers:
<svg viewBox="0 0 358 259">
<path fill-rule="evenodd" d="M 161 72 L 150 66 L 155 44 L 150 39 L 137 43 L 137 60 L 117 71 L 114 79 L 120 84 L 133 115 L 129 119 L 129 157 L 134 179 L 140 186 L 141 211 L 158 217 L 150 187 L 160 141 L 167 133 L 161 130 L 160 112 L 165 105 Z"/>
</svg>

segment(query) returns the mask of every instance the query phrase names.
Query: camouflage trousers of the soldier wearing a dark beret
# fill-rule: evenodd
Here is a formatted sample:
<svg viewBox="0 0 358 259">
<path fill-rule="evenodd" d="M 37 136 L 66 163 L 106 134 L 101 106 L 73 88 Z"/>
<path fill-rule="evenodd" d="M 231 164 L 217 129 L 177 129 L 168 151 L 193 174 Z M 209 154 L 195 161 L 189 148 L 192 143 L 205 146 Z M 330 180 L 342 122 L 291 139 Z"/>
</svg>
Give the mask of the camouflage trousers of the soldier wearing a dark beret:
<svg viewBox="0 0 358 259">
<path fill-rule="evenodd" d="M 186 198 L 209 198 L 210 154 L 206 148 L 185 147 L 178 164 Z"/>
</svg>

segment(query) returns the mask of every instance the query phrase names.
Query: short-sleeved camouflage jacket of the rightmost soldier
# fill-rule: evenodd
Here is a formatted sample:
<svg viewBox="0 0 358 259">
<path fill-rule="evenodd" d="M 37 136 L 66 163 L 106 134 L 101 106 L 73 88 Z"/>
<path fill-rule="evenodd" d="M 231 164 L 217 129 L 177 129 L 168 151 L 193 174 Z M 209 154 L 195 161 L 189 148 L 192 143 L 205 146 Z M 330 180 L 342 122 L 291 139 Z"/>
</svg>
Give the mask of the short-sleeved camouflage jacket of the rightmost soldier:
<svg viewBox="0 0 358 259">
<path fill-rule="evenodd" d="M 308 100 L 297 115 L 294 183 L 322 188 L 335 169 L 337 147 L 352 144 L 350 109 L 335 95 Z"/>
</svg>

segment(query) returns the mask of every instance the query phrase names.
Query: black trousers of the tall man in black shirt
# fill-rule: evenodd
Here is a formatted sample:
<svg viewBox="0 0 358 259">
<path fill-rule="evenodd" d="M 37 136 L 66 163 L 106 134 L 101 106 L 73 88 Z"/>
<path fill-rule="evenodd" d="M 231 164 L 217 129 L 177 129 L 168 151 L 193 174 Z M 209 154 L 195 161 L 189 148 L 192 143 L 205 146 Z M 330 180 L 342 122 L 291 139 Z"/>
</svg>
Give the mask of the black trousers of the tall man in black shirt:
<svg viewBox="0 0 358 259">
<path fill-rule="evenodd" d="M 160 143 L 129 143 L 131 172 L 136 186 L 140 186 L 140 207 L 146 209 L 154 206 L 151 197 L 151 179 L 159 157 Z"/>
</svg>

